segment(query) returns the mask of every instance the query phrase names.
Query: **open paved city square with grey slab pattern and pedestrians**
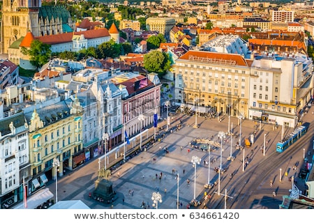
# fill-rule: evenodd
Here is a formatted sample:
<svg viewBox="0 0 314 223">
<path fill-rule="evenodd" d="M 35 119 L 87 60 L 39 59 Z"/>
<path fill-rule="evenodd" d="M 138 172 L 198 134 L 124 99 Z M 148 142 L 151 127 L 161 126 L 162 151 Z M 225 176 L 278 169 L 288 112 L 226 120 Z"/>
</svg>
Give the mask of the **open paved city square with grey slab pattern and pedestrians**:
<svg viewBox="0 0 314 223">
<path fill-rule="evenodd" d="M 311 119 L 311 114 L 308 116 Z M 304 120 L 306 120 L 305 118 L 306 116 L 304 116 Z M 193 124 L 195 123 L 194 117 L 177 114 L 171 120 L 172 123 L 169 128 L 176 126 L 180 120 L 184 127 L 167 134 L 163 140 L 157 141 L 154 145 L 148 147 L 146 151 L 143 149 L 142 152 L 137 153 L 137 155 L 128 159 L 125 163 L 120 162 L 123 164 L 116 165 L 112 170 L 110 180 L 113 183 L 113 190 L 117 194 L 113 202 L 100 202 L 89 197 L 89 194 L 94 191 L 94 180 L 97 178 L 98 169 L 104 165 L 103 157 L 100 159 L 100 162 L 98 159 L 92 160 L 84 164 L 80 169 L 77 169 L 77 171 L 59 178 L 58 200 L 82 200 L 87 206 L 93 209 L 223 208 L 226 205 L 224 203 L 225 195 L 229 197 L 227 202 L 237 199 L 234 196 L 237 193 L 232 192 L 232 186 L 228 186 L 229 181 L 232 180 L 231 178 L 238 178 L 246 173 L 246 171 L 250 171 L 251 167 L 254 167 L 255 164 L 265 159 L 269 153 L 275 151 L 276 143 L 281 139 L 280 128 L 274 130 L 273 125 L 265 125 L 264 123 L 258 127 L 258 123 L 245 120 L 241 123 L 241 143 L 244 145 L 244 139 L 250 137 L 257 129 L 254 143 L 251 145 L 251 148 L 244 147 L 243 150 L 236 149 L 235 145 L 239 141 L 239 137 L 238 139 L 232 137 L 233 147 L 232 151 L 230 151 L 231 137 L 228 134 L 228 130 L 232 130 L 234 135 L 239 136 L 240 125 L 237 118 L 231 118 L 229 121 L 228 116 L 223 116 L 221 122 L 218 122 L 216 118 L 209 120 L 198 118 L 197 124 L 199 128 L 193 128 Z M 166 122 L 160 122 L 158 127 L 160 126 L 166 128 Z M 286 130 L 285 134 L 290 131 Z M 225 132 L 223 140 L 218 139 L 220 132 Z M 264 144 L 264 134 L 267 134 L 265 152 L 261 149 Z M 148 133 L 143 134 L 143 144 L 151 136 L 154 136 L 154 128 L 150 128 Z M 209 139 L 211 137 L 213 137 L 216 145 L 222 145 L 221 148 L 223 150 L 221 151 L 220 148 L 213 149 L 210 153 L 210 159 L 209 151 L 192 148 L 190 145 L 190 142 L 196 138 Z M 135 143 L 137 143 L 137 146 L 140 144 L 140 137 L 137 137 Z M 127 146 L 130 147 L 133 145 Z M 167 153 L 164 148 L 167 148 L 169 152 Z M 221 167 L 222 169 L 226 169 L 226 171 L 221 176 L 218 176 L 219 174 L 215 169 L 220 167 L 220 151 L 222 155 Z M 233 161 L 228 159 L 230 153 L 234 157 Z M 299 157 L 293 157 L 292 161 L 297 162 L 297 160 L 300 160 L 301 155 L 299 153 Z M 193 157 L 200 159 L 200 162 L 196 163 L 196 167 L 191 162 Z M 311 155 L 308 157 L 311 158 Z M 109 155 L 107 168 L 111 167 L 110 164 L 117 162 L 119 158 L 123 160 L 123 155 L 117 157 L 117 159 L 113 153 Z M 249 162 L 244 163 L 242 162 L 243 159 L 249 160 Z M 299 168 L 297 171 L 299 171 Z M 269 178 L 272 176 L 269 176 L 260 185 L 261 188 L 259 189 L 262 192 L 257 194 L 256 197 L 252 196 L 255 199 L 254 206 L 244 206 L 242 208 L 278 208 L 278 205 L 282 202 L 282 196 L 289 194 L 289 190 L 292 187 L 290 180 L 284 175 L 284 170 L 280 182 L 278 174 L 279 169 L 274 170 L 274 174 L 272 174 L 275 176 L 274 187 L 277 187 L 276 201 L 272 197 L 273 189 L 269 185 Z M 220 181 L 220 185 L 218 181 Z M 207 188 L 205 186 L 207 184 L 212 184 L 213 186 Z M 54 182 L 47 185 L 47 187 L 50 188 L 51 192 L 55 191 Z M 218 188 L 220 191 L 218 191 Z M 160 194 L 157 203 L 154 203 L 152 200 L 153 193 Z M 206 194 L 210 196 L 204 199 Z M 210 198 L 208 199 L 208 197 Z M 262 200 L 264 197 L 269 197 L 266 199 L 266 203 L 269 206 L 267 204 L 264 206 L 258 202 L 256 203 L 256 200 Z M 190 205 L 194 198 L 200 201 L 197 206 Z M 179 203 L 177 203 L 178 200 Z"/>
</svg>

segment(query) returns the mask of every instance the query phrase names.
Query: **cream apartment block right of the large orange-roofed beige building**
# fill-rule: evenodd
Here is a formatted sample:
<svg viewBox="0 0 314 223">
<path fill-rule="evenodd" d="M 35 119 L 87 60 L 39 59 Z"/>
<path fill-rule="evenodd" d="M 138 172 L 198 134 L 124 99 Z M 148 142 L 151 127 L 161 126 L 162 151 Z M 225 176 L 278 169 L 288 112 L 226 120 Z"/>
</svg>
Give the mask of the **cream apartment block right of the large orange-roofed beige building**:
<svg viewBox="0 0 314 223">
<path fill-rule="evenodd" d="M 313 95 L 313 61 L 304 54 L 257 56 L 249 81 L 248 118 L 294 128 Z"/>
</svg>

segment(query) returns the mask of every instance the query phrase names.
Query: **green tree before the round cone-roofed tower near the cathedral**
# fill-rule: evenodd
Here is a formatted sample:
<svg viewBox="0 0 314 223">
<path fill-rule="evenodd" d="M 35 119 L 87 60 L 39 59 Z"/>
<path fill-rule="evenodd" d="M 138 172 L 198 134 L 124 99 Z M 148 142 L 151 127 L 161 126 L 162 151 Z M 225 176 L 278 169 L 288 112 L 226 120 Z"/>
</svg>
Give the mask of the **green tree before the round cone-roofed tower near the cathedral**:
<svg viewBox="0 0 314 223">
<path fill-rule="evenodd" d="M 22 47 L 21 52 L 29 55 L 31 65 L 36 66 L 37 70 L 49 61 L 52 53 L 51 45 L 41 43 L 39 40 L 33 40 L 29 49 Z"/>
</svg>

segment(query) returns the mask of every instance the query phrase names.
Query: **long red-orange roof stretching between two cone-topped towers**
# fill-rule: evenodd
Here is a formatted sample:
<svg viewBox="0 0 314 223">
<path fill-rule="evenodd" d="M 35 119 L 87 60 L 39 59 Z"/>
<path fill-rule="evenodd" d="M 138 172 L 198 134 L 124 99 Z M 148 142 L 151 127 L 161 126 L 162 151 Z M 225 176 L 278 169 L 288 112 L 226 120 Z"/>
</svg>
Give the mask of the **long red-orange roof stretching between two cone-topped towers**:
<svg viewBox="0 0 314 223">
<path fill-rule="evenodd" d="M 84 38 L 86 39 L 110 36 L 106 28 L 100 28 L 100 29 L 80 31 L 80 32 L 74 32 L 74 33 L 59 33 L 59 34 L 50 35 L 50 36 L 37 36 L 36 39 L 40 40 L 40 42 L 42 43 L 54 45 L 58 43 L 72 42 L 73 35 L 84 35 Z"/>
</svg>

